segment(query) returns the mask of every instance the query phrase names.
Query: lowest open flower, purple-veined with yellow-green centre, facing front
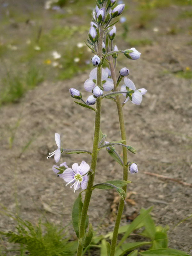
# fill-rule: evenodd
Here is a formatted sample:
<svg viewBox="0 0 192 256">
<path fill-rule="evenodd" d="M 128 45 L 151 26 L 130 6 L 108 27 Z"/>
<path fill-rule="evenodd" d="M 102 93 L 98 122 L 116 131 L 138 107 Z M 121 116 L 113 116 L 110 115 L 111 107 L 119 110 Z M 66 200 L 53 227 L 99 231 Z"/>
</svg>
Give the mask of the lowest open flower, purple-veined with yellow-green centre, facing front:
<svg viewBox="0 0 192 256">
<path fill-rule="evenodd" d="M 68 182 L 65 186 L 73 183 L 70 188 L 74 187 L 74 193 L 80 186 L 82 189 L 86 189 L 89 169 L 89 164 L 86 164 L 85 161 L 82 161 L 80 165 L 77 163 L 73 164 L 72 169 L 68 168 L 63 172 L 62 178 Z"/>
</svg>

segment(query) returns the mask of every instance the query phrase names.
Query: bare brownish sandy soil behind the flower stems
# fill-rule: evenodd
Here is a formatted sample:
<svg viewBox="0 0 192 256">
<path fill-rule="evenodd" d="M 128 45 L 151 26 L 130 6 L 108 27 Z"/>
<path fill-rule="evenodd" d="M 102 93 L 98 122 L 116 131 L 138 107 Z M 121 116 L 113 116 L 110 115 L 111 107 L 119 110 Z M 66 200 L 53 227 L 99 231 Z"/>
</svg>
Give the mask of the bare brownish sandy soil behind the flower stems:
<svg viewBox="0 0 192 256">
<path fill-rule="evenodd" d="M 138 163 L 139 173 L 130 175 L 132 184 L 128 191 L 135 194 L 131 198 L 133 206 L 125 206 L 123 223 L 141 207 L 154 205 L 152 212 L 156 224 L 170 226 L 170 247 L 192 253 L 192 222 L 186 220 L 174 226 L 192 213 L 191 188 L 170 180 L 160 180 L 144 173 L 153 172 L 192 184 L 192 81 L 178 78 L 172 72 L 192 67 L 191 46 L 186 43 L 190 35 L 179 33 L 165 35 L 166 26 L 162 21 L 174 21 L 176 7 L 159 11 L 154 22 L 160 32 L 152 28 L 135 30 L 130 35 L 144 36 L 150 33 L 156 40 L 152 46 L 139 47 L 142 58 L 129 61 L 120 58 L 119 68 L 130 69 L 129 78 L 137 88 L 145 87 L 148 93 L 142 104 L 135 106 L 128 102 L 124 107 L 128 144 L 137 148 L 140 154 L 129 154 L 129 160 Z M 176 17 L 176 16 L 175 16 Z M 181 22 L 180 27 L 185 28 Z M 122 48 L 126 45 L 122 44 Z M 120 47 L 119 47 L 120 48 Z M 164 72 L 164 69 L 169 72 Z M 118 70 L 117 70 L 118 73 Z M 84 92 L 84 81 L 89 72 L 77 75 L 70 81 L 52 84 L 44 82 L 35 90 L 29 91 L 18 104 L 0 109 L 0 203 L 9 210 L 19 206 L 22 218 L 33 223 L 46 212 L 50 221 L 67 224 L 71 220 L 72 204 L 78 193 L 65 187 L 64 182 L 52 172 L 54 160 L 47 161 L 48 152 L 55 150 L 54 132 L 61 134 L 63 148 L 85 148 L 91 150 L 94 113 L 73 103 L 69 88 L 75 87 Z M 122 98 L 123 100 L 123 98 Z M 103 100 L 101 129 L 108 140 L 119 140 L 119 124 L 115 103 Z M 18 124 L 18 127 L 16 128 Z M 15 134 L 13 146 L 9 148 L 9 138 Z M 32 140 L 28 148 L 22 149 Z M 119 152 L 121 148 L 116 147 Z M 68 166 L 82 160 L 90 163 L 88 155 L 62 155 Z M 61 161 L 62 163 L 62 161 Z M 121 179 L 121 170 L 103 150 L 100 152 L 95 182 Z M 89 216 L 94 227 L 107 232 L 113 227 L 111 204 L 113 192 L 94 191 Z M 100 224 L 100 220 L 102 223 Z M 0 227 L 12 230 L 14 221 L 1 217 Z"/>
</svg>

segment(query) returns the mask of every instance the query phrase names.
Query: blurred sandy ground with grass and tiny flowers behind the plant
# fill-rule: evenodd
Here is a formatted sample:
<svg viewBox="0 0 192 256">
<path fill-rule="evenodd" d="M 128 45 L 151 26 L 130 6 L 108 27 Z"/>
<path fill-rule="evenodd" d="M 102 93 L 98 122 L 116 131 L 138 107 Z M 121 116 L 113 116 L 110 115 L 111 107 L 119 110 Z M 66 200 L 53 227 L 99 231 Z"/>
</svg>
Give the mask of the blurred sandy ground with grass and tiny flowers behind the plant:
<svg viewBox="0 0 192 256">
<path fill-rule="evenodd" d="M 129 155 L 139 173 L 130 175 L 122 222 L 154 205 L 156 223 L 171 227 L 170 246 L 190 253 L 191 219 L 175 225 L 192 214 L 192 0 L 117 2 L 126 7 L 115 43 L 142 53 L 137 61 L 119 56 L 117 74 L 129 68 L 136 88 L 148 90 L 140 106 L 124 107 L 128 143 L 140 154 Z M 92 53 L 84 40 L 94 7 L 93 0 L 0 1 L 0 204 L 32 223 L 44 215 L 68 224 L 77 196 L 52 172 L 54 160 L 46 159 L 55 150 L 54 132 L 61 134 L 63 148 L 92 148 L 94 113 L 75 106 L 68 90 L 82 91 L 84 100 L 89 95 L 83 84 Z M 120 139 L 116 106 L 108 100 L 101 129 L 109 141 Z M 86 155 L 63 154 L 62 160 L 68 166 L 90 164 Z M 114 178 L 121 179 L 121 170 L 103 151 L 96 182 Z M 93 193 L 89 215 L 101 232 L 114 225 L 115 197 L 113 191 Z M 2 215 L 0 228 L 14 227 Z M 7 246 L 3 241 L 2 248 Z"/>
</svg>

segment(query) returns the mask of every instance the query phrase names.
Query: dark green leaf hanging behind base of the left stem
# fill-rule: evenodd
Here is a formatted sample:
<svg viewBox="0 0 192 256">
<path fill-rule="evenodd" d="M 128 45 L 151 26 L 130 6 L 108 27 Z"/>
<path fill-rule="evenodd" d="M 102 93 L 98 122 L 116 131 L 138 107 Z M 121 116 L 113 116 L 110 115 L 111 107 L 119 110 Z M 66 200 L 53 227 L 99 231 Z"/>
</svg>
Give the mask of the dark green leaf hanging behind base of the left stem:
<svg viewBox="0 0 192 256">
<path fill-rule="evenodd" d="M 83 202 L 82 202 L 82 196 L 80 193 L 78 195 L 77 199 L 75 200 L 75 203 L 74 203 L 73 209 L 72 209 L 72 224 L 73 224 L 75 233 L 77 235 L 77 238 L 79 237 L 79 224 L 80 224 L 80 219 L 81 219 L 82 207 L 83 207 Z M 88 226 L 88 221 L 89 221 L 88 218 L 89 218 L 89 216 L 87 215 L 85 229 Z"/>
</svg>

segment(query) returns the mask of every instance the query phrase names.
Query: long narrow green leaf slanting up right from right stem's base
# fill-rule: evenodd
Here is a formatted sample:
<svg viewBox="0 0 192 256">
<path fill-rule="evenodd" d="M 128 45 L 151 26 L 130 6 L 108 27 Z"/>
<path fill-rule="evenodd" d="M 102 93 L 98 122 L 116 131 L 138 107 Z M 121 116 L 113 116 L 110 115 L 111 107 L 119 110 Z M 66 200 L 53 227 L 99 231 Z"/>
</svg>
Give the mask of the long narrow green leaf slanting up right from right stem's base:
<svg viewBox="0 0 192 256">
<path fill-rule="evenodd" d="M 134 231 L 137 228 L 137 226 L 143 221 L 143 219 L 148 215 L 148 213 L 151 212 L 152 209 L 153 209 L 153 207 L 150 207 L 147 210 L 143 210 L 143 212 L 140 213 L 140 215 L 137 216 L 137 218 L 135 218 L 132 221 L 132 223 L 127 228 L 127 231 L 125 232 L 124 236 L 122 237 L 119 244 L 117 245 L 117 248 L 120 247 L 124 243 L 126 238 L 131 234 L 132 231 Z"/>
</svg>

